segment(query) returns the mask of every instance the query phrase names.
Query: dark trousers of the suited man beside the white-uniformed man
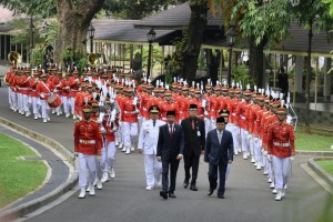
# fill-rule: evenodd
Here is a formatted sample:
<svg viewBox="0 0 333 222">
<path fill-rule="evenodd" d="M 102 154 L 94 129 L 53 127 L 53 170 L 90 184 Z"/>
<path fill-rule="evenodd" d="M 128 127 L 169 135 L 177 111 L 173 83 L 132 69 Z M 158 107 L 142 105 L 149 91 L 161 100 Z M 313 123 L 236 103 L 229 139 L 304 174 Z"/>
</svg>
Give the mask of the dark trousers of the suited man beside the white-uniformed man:
<svg viewBox="0 0 333 222">
<path fill-rule="evenodd" d="M 175 190 L 175 179 L 176 171 L 179 167 L 179 160 L 172 158 L 172 160 L 163 161 L 162 160 L 162 190 L 164 192 L 174 192 Z M 170 188 L 169 186 L 169 168 L 170 168 Z"/>
</svg>

